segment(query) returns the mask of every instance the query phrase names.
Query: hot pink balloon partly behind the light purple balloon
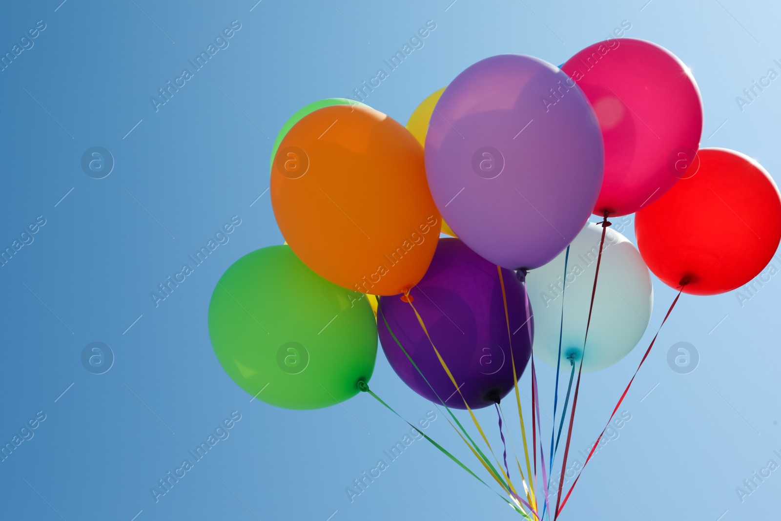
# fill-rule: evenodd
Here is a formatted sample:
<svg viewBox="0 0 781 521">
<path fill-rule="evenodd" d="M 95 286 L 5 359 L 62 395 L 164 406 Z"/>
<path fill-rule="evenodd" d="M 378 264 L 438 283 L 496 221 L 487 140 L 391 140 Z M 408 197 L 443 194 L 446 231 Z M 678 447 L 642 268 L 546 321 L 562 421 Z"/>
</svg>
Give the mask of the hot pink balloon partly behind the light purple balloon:
<svg viewBox="0 0 781 521">
<path fill-rule="evenodd" d="M 649 41 L 612 39 L 584 48 L 562 70 L 591 102 L 602 130 L 595 215 L 636 212 L 696 173 L 702 100 L 676 55 Z"/>
</svg>

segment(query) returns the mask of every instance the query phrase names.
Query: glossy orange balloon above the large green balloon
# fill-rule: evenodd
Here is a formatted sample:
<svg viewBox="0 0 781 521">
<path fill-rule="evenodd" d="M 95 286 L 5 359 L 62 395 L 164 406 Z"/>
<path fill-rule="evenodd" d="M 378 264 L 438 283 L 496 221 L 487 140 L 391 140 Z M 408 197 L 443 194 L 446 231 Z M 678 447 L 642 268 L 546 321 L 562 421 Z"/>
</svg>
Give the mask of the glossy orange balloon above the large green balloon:
<svg viewBox="0 0 781 521">
<path fill-rule="evenodd" d="M 332 105 L 298 121 L 276 152 L 271 202 L 298 258 L 351 290 L 403 293 L 437 248 L 423 148 L 369 107 Z"/>
</svg>

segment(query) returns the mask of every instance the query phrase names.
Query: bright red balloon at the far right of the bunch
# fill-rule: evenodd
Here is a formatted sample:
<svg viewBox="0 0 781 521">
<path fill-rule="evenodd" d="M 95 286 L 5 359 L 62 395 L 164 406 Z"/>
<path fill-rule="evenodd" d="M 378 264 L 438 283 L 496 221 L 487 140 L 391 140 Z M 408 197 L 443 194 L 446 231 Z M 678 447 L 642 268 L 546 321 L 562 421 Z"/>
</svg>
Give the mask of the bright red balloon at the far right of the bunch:
<svg viewBox="0 0 781 521">
<path fill-rule="evenodd" d="M 699 168 L 637 212 L 637 248 L 662 282 L 719 294 L 747 284 L 781 241 L 781 194 L 761 165 L 726 148 L 701 148 Z"/>
</svg>

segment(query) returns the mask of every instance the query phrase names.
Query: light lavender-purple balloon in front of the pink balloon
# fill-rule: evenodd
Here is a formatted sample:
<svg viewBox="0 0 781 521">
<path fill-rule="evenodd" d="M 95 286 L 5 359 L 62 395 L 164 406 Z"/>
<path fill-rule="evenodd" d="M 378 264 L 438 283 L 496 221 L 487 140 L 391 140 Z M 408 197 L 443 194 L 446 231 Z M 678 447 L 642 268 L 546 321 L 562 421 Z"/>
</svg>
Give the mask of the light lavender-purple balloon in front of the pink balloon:
<svg viewBox="0 0 781 521">
<path fill-rule="evenodd" d="M 602 185 L 597 116 L 558 67 L 483 59 L 437 102 L 426 176 L 455 234 L 508 269 L 543 266 L 583 230 Z"/>
</svg>

